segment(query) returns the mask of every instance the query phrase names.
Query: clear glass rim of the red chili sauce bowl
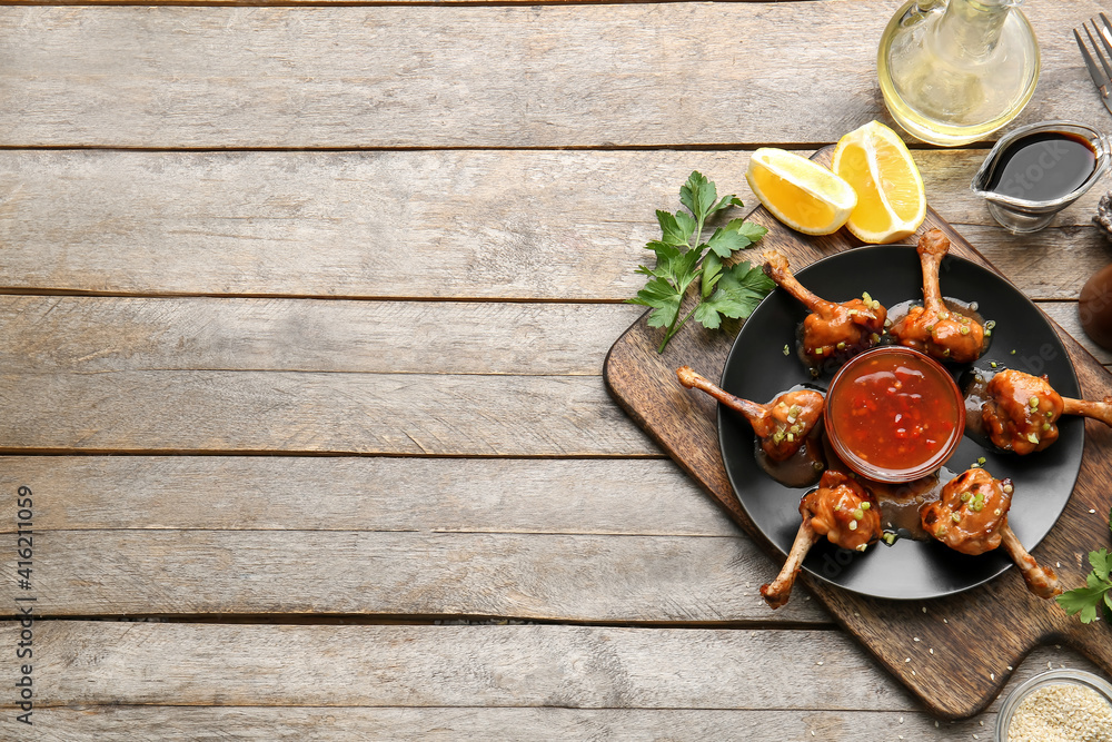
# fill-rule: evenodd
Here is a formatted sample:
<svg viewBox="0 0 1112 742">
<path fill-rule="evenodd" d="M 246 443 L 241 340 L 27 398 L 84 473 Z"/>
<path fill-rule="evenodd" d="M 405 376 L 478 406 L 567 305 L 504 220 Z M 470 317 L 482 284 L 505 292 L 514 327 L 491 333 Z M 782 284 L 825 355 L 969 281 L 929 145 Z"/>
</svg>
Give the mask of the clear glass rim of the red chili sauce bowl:
<svg viewBox="0 0 1112 742">
<path fill-rule="evenodd" d="M 901 355 L 909 358 L 914 358 L 917 363 L 925 365 L 931 368 L 936 376 L 943 382 L 943 386 L 946 387 L 950 395 L 947 395 L 949 400 L 953 405 L 954 413 L 954 432 L 951 434 L 950 439 L 946 442 L 945 446 L 936 454 L 931 456 L 927 461 L 923 462 L 915 468 L 906 468 L 900 471 L 885 469 L 876 466 L 872 466 L 866 462 L 863 462 L 853 449 L 845 444 L 845 442 L 838 435 L 836 424 L 834 423 L 834 417 L 831 415 L 832 405 L 835 397 L 837 396 L 837 386 L 846 375 L 846 373 L 854 367 L 864 363 L 868 358 L 877 355 Z M 831 379 L 830 386 L 826 389 L 826 402 L 823 410 L 823 423 L 826 428 L 826 436 L 830 439 L 831 446 L 834 448 L 834 453 L 837 454 L 838 458 L 848 466 L 853 472 L 860 474 L 866 479 L 872 479 L 874 482 L 886 482 L 886 483 L 904 483 L 913 482 L 915 479 L 922 478 L 932 472 L 937 471 L 943 464 L 949 461 L 953 453 L 957 449 L 959 444 L 961 444 L 962 436 L 965 432 L 965 397 L 962 395 L 961 389 L 957 388 L 957 383 L 954 382 L 953 376 L 950 372 L 940 364 L 937 360 L 915 350 L 914 348 L 909 348 L 902 345 L 882 345 L 878 347 L 870 348 L 864 353 L 857 354 L 850 360 L 847 360 Z"/>
</svg>

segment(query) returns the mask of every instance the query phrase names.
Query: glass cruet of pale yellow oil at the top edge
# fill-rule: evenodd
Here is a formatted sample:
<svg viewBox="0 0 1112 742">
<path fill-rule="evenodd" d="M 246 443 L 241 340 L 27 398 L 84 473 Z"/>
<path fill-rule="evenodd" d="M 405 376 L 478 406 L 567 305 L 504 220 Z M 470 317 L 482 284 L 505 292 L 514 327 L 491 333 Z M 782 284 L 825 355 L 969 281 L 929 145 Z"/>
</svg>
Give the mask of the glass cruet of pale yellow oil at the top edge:
<svg viewBox="0 0 1112 742">
<path fill-rule="evenodd" d="M 876 70 L 892 117 L 935 145 L 967 145 L 1015 118 L 1039 80 L 1023 0 L 911 0 L 884 29 Z"/>
</svg>

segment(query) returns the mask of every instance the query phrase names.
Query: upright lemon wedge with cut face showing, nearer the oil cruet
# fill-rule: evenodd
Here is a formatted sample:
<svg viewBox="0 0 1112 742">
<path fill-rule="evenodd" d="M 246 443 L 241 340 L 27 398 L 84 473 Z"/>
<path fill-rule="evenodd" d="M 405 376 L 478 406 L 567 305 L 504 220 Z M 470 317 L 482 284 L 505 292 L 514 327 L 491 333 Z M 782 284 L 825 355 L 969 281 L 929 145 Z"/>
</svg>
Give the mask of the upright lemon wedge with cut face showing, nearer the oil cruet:
<svg viewBox="0 0 1112 742">
<path fill-rule="evenodd" d="M 894 243 L 915 234 L 923 224 L 923 178 L 907 146 L 880 121 L 842 137 L 831 169 L 857 191 L 857 206 L 845 222 L 857 239 Z"/>
</svg>

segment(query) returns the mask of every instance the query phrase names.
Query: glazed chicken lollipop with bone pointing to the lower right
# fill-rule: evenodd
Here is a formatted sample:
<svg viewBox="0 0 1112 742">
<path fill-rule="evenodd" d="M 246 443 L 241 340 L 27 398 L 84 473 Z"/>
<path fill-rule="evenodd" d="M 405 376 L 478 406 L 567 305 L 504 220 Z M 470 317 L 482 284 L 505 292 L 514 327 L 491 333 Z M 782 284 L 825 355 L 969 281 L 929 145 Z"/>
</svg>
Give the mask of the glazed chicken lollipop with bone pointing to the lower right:
<svg viewBox="0 0 1112 742">
<path fill-rule="evenodd" d="M 1054 571 L 1039 566 L 1007 527 L 1012 491 L 1011 479 L 995 479 L 983 468 L 971 468 L 951 479 L 939 501 L 923 507 L 923 528 L 962 554 L 984 554 L 1003 544 L 1027 590 L 1039 597 L 1060 595 Z"/>
</svg>

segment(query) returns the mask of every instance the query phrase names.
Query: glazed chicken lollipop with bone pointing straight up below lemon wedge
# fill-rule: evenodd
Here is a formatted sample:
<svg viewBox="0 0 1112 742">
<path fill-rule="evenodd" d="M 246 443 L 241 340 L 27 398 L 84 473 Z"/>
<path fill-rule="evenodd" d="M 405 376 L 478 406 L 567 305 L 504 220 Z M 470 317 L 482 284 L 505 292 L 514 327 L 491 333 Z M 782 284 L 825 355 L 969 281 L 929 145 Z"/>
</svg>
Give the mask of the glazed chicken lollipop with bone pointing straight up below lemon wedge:
<svg viewBox="0 0 1112 742">
<path fill-rule="evenodd" d="M 976 360 L 984 352 L 984 328 L 975 319 L 951 311 L 939 288 L 939 267 L 950 251 L 950 239 L 932 229 L 920 237 L 915 251 L 923 266 L 923 306 L 912 307 L 888 328 L 888 334 L 900 345 L 940 360 Z"/>
</svg>

